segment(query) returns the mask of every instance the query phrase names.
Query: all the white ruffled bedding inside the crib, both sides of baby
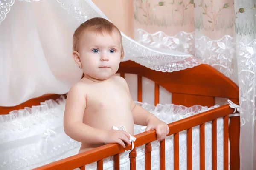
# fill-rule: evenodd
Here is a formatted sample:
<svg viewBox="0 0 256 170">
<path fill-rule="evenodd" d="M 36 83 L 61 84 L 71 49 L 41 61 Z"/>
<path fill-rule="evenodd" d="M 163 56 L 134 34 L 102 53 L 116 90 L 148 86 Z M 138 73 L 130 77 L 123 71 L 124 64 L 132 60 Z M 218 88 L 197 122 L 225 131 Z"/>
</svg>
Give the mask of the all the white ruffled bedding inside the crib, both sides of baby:
<svg viewBox="0 0 256 170">
<path fill-rule="evenodd" d="M 81 143 L 70 139 L 64 133 L 65 102 L 65 97 L 61 96 L 56 101 L 47 100 L 39 106 L 12 111 L 9 115 L 0 115 L 0 169 L 32 169 L 53 162 L 60 157 L 63 159 L 72 156 L 67 154 L 72 150 L 77 153 Z M 218 105 L 211 108 L 195 105 L 187 108 L 173 104 L 153 106 L 142 102 L 135 103 L 166 123 L 218 107 Z M 144 131 L 144 126 L 134 125 L 135 134 Z M 155 144 L 159 145 L 153 142 L 152 146 Z M 137 154 L 140 155 L 143 147 L 137 149 L 139 149 Z M 110 159 L 105 159 L 105 162 Z M 125 157 L 120 163 L 126 164 L 126 159 L 128 158 Z M 140 160 L 140 157 L 137 159 Z M 138 162 L 138 164 L 143 163 Z"/>
</svg>

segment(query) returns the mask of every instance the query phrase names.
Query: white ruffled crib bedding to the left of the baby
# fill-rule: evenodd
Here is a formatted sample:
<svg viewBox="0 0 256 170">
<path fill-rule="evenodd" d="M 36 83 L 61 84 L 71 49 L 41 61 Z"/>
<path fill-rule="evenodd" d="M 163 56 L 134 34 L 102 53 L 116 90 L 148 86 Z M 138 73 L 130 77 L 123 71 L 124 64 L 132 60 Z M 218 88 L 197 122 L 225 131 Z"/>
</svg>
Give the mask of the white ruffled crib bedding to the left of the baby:
<svg viewBox="0 0 256 170">
<path fill-rule="evenodd" d="M 64 133 L 65 97 L 0 115 L 0 169 L 30 170 L 80 147 Z"/>
</svg>

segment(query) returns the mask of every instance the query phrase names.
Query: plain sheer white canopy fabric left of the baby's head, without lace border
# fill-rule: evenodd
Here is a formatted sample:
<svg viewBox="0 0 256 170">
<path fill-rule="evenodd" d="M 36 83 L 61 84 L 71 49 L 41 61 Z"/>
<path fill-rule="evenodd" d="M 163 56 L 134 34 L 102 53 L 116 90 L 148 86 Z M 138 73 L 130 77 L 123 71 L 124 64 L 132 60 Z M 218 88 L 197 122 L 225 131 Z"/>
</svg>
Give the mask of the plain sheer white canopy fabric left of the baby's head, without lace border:
<svg viewBox="0 0 256 170">
<path fill-rule="evenodd" d="M 72 59 L 77 26 L 57 1 L 15 1 L 0 25 L 1 106 L 67 93 L 82 76 Z"/>
</svg>

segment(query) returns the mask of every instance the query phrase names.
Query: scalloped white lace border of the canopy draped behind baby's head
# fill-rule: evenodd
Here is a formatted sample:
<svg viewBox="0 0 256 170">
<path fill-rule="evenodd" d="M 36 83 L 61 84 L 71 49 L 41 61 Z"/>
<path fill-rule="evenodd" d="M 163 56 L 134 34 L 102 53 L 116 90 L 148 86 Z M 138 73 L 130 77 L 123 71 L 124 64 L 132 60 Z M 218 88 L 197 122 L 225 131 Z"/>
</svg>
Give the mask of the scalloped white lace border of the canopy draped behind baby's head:
<svg viewBox="0 0 256 170">
<path fill-rule="evenodd" d="M 22 0 L 21 0 L 22 1 Z M 30 0 L 26 0 L 29 1 Z M 40 0 L 34 0 L 40 1 Z M 91 0 L 57 0 L 67 12 L 82 23 L 93 17 L 103 17 L 108 20 L 105 14 Z M 0 23 L 5 19 L 6 14 L 14 0 L 5 0 L 0 6 Z M 122 33 L 123 44 L 125 48 L 125 58 L 133 60 L 141 65 L 151 69 L 163 72 L 179 71 L 186 68 L 192 68 L 200 64 L 198 59 L 178 51 L 163 51 L 147 48 Z"/>
</svg>

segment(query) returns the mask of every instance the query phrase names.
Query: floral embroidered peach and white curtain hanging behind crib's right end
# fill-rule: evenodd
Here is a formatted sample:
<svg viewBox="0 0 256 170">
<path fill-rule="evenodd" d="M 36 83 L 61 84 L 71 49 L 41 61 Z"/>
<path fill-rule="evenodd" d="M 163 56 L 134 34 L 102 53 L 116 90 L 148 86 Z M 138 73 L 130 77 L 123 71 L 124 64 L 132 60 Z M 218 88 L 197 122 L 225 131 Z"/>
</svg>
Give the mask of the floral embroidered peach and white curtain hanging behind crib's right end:
<svg viewBox="0 0 256 170">
<path fill-rule="evenodd" d="M 135 39 L 183 51 L 239 85 L 240 169 L 256 169 L 256 1 L 134 0 Z"/>
</svg>

